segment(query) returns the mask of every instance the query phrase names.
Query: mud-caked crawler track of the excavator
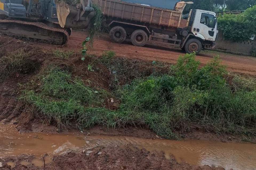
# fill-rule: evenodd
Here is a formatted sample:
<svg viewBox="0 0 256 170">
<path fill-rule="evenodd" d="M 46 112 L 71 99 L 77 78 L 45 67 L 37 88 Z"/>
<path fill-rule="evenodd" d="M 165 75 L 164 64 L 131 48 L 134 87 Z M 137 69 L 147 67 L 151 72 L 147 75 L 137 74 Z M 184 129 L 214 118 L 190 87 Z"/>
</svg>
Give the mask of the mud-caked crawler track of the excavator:
<svg viewBox="0 0 256 170">
<path fill-rule="evenodd" d="M 69 39 L 65 29 L 49 27 L 42 22 L 8 19 L 0 20 L 0 35 L 57 45 L 65 45 Z"/>
</svg>

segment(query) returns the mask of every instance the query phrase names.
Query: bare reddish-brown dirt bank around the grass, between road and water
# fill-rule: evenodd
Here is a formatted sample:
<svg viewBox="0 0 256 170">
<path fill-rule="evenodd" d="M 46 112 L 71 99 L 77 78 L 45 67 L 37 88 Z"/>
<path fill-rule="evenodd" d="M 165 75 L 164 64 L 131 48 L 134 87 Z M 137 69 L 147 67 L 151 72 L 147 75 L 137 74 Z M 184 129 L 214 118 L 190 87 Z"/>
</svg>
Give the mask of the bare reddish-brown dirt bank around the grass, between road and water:
<svg viewBox="0 0 256 170">
<path fill-rule="evenodd" d="M 76 35 L 76 32 L 74 33 Z M 74 35 L 74 36 L 75 36 Z M 71 39 L 72 43 L 79 44 L 78 41 L 74 41 Z M 95 40 L 94 49 L 97 48 L 98 40 Z M 107 43 L 106 41 L 105 43 Z M 9 44 L 8 46 L 5 43 Z M 109 44 L 109 42 L 108 42 Z M 104 45 L 104 43 L 103 43 Z M 74 56 L 72 56 L 68 60 L 62 60 L 56 56 L 53 56 L 52 52 L 55 49 L 48 48 L 50 45 L 45 45 L 44 48 L 39 48 L 38 45 L 31 45 L 28 43 L 24 43 L 23 41 L 12 39 L 9 37 L 0 37 L 0 49 L 2 49 L 3 53 L 1 53 L 1 57 L 13 53 L 15 51 L 22 51 L 23 49 L 29 50 L 29 60 L 24 66 L 21 66 L 18 70 L 10 71 L 7 78 L 0 83 L 0 121 L 4 120 L 5 123 L 13 122 L 16 125 L 16 128 L 21 131 L 35 131 L 35 132 L 46 132 L 46 133 L 58 133 L 59 129 L 56 126 L 50 125 L 48 120 L 45 117 L 38 113 L 34 107 L 29 104 L 26 104 L 22 100 L 19 100 L 19 96 L 21 93 L 21 88 L 19 84 L 24 84 L 29 81 L 37 82 L 37 74 L 43 70 L 45 67 L 49 65 L 59 66 L 65 70 L 69 70 L 73 76 L 79 76 L 82 80 L 87 83 L 87 85 L 91 87 L 100 87 L 105 90 L 110 91 L 113 88 L 115 82 L 115 76 L 112 72 L 113 70 L 109 70 L 106 66 L 95 63 L 96 68 L 101 68 L 99 70 L 95 70 L 95 72 L 90 72 L 87 70 L 87 65 L 92 61 L 92 59 L 86 59 L 84 62 L 81 62 L 80 55 L 80 46 L 77 45 L 78 51 L 75 51 Z M 119 46 L 119 44 L 118 44 Z M 127 45 L 132 47 L 130 45 Z M 52 46 L 51 46 L 52 47 Z M 59 47 L 61 48 L 61 47 Z M 71 45 L 68 44 L 65 48 L 71 48 Z M 102 47 L 103 48 L 103 47 Z M 137 47 L 134 47 L 137 48 Z M 74 48 L 71 48 L 74 49 Z M 101 55 L 102 51 L 94 51 Z M 123 48 L 120 48 L 123 49 Z M 105 50 L 113 50 L 112 48 L 106 48 Z M 119 52 L 117 52 L 119 53 Z M 134 54 L 134 53 L 133 53 Z M 133 54 L 130 54 L 133 56 Z M 128 56 L 126 56 L 128 57 Z M 136 58 L 136 57 L 135 57 Z M 152 65 L 151 61 L 144 61 L 139 59 L 126 59 L 125 57 L 117 57 L 115 60 L 117 65 L 120 68 L 124 68 L 123 74 L 119 77 L 119 84 L 115 85 L 125 85 L 126 83 L 131 82 L 136 76 L 149 76 L 153 72 L 165 74 L 168 73 L 169 65 L 163 65 L 158 68 Z M 31 63 L 37 63 L 36 69 L 27 69 L 27 66 L 33 66 Z M 23 71 L 30 70 L 30 71 Z M 87 81 L 89 80 L 89 81 Z M 93 80 L 93 81 L 90 81 Z M 38 84 L 39 86 L 39 84 Z M 117 102 L 110 102 L 110 99 L 106 99 L 103 104 L 105 107 L 109 109 L 116 109 L 118 106 Z M 243 138 L 241 136 L 234 135 L 218 135 L 212 133 L 209 129 L 208 131 L 205 128 L 191 125 L 190 130 L 186 133 L 183 132 L 183 137 L 188 139 L 203 139 L 203 140 L 214 140 L 214 141 L 223 141 L 223 142 L 241 142 Z M 66 130 L 73 129 L 72 126 L 68 126 Z M 156 138 L 155 134 L 147 127 L 126 127 L 119 129 L 107 129 L 102 126 L 95 126 L 94 128 L 88 130 L 91 134 L 104 134 L 104 135 L 127 135 L 127 136 L 135 136 L 142 138 Z M 177 132 L 179 133 L 179 132 Z"/>
</svg>

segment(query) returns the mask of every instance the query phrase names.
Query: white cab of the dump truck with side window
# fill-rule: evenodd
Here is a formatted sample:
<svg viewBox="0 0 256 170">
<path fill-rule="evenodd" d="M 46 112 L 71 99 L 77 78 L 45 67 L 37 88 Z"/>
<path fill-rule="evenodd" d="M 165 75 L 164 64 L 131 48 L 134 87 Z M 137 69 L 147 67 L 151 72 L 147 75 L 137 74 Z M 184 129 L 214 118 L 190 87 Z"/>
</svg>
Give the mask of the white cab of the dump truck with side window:
<svg viewBox="0 0 256 170">
<path fill-rule="evenodd" d="M 216 14 L 197 10 L 192 32 L 203 40 L 215 41 L 218 33 Z"/>
</svg>

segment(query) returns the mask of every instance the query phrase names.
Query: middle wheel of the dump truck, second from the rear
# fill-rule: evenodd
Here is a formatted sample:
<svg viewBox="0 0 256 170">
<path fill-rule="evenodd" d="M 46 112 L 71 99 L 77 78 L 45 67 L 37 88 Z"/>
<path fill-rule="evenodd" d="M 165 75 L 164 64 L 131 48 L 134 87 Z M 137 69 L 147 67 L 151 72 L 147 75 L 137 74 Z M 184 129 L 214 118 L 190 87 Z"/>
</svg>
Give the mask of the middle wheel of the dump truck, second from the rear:
<svg viewBox="0 0 256 170">
<path fill-rule="evenodd" d="M 147 33 L 141 29 L 137 29 L 131 34 L 131 42 L 135 46 L 144 46 L 148 39 Z"/>
</svg>

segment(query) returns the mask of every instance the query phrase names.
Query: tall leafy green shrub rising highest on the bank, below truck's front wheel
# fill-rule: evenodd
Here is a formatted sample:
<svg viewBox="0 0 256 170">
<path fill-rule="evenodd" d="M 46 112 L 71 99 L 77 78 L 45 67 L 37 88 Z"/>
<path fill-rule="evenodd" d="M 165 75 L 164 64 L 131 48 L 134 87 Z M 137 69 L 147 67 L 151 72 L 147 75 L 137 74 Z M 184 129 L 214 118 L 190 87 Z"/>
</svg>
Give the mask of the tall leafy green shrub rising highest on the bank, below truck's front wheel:
<svg viewBox="0 0 256 170">
<path fill-rule="evenodd" d="M 185 54 L 179 57 L 174 66 L 175 75 L 179 84 L 183 86 L 196 86 L 197 89 L 206 90 L 217 85 L 224 85 L 223 75 L 225 67 L 220 65 L 219 57 L 199 69 L 200 62 L 195 60 L 195 54 Z"/>
</svg>

